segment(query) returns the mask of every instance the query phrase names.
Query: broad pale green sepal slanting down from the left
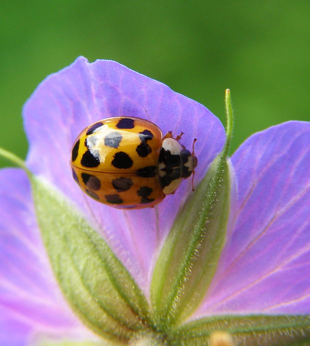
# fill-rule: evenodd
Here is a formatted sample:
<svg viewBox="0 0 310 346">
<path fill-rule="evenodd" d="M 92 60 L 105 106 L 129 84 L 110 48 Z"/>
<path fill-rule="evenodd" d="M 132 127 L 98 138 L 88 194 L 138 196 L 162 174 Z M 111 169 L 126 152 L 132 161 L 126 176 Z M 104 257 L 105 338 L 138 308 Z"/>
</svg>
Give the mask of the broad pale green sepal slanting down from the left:
<svg viewBox="0 0 310 346">
<path fill-rule="evenodd" d="M 39 228 L 58 283 L 95 333 L 127 343 L 148 328 L 148 303 L 102 237 L 47 181 L 30 175 Z"/>
</svg>

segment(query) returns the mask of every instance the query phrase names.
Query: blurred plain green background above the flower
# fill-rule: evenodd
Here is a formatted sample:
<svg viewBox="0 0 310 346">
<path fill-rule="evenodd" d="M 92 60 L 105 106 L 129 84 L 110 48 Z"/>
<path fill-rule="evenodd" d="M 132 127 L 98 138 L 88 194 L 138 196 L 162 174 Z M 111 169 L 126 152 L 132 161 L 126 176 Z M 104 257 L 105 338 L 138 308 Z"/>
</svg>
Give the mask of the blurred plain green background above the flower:
<svg viewBox="0 0 310 346">
<path fill-rule="evenodd" d="M 21 157 L 23 103 L 78 55 L 121 62 L 221 120 L 229 87 L 231 151 L 270 125 L 310 120 L 308 0 L 2 0 L 0 12 L 0 146 Z"/>
</svg>

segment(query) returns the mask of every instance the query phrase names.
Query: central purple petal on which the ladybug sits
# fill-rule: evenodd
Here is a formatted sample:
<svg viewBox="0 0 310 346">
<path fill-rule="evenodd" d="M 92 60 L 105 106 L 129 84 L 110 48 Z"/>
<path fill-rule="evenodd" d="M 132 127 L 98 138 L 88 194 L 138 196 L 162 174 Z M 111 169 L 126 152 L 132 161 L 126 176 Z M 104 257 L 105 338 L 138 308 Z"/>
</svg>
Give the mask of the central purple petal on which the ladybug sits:
<svg viewBox="0 0 310 346">
<path fill-rule="evenodd" d="M 221 150 L 224 130 L 204 106 L 166 85 L 117 62 L 96 60 L 90 64 L 83 57 L 46 78 L 24 107 L 30 142 L 28 167 L 76 202 L 148 294 L 155 250 L 190 191 L 190 179 L 152 209 L 117 210 L 81 192 L 71 177 L 72 143 L 90 123 L 118 115 L 150 118 L 163 133 L 183 131 L 181 142 L 189 149 L 196 137 L 195 183 Z"/>
</svg>

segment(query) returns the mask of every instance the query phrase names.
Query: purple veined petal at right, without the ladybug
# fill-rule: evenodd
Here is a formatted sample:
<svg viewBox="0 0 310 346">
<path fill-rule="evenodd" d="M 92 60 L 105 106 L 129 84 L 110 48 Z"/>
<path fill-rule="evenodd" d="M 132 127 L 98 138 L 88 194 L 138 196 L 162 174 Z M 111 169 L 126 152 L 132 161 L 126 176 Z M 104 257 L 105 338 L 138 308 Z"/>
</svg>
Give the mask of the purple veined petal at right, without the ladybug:
<svg viewBox="0 0 310 346">
<path fill-rule="evenodd" d="M 197 314 L 309 314 L 310 123 L 252 135 L 232 164 L 234 229 Z"/>
</svg>

